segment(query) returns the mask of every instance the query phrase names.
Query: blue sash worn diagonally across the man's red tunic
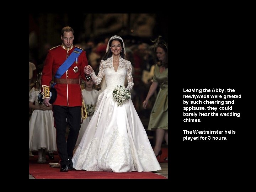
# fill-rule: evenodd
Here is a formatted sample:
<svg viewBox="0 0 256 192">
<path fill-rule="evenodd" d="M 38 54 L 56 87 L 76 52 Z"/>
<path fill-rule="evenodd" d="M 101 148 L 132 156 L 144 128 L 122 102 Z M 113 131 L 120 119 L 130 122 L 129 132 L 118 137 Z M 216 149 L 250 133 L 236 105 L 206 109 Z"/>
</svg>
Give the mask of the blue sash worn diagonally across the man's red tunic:
<svg viewBox="0 0 256 192">
<path fill-rule="evenodd" d="M 81 49 L 75 48 L 74 51 L 69 55 L 69 57 L 64 61 L 64 63 L 60 65 L 54 77 L 60 78 L 65 73 L 65 71 L 68 70 L 70 66 L 74 63 L 75 58 L 78 58 L 81 53 Z"/>
</svg>

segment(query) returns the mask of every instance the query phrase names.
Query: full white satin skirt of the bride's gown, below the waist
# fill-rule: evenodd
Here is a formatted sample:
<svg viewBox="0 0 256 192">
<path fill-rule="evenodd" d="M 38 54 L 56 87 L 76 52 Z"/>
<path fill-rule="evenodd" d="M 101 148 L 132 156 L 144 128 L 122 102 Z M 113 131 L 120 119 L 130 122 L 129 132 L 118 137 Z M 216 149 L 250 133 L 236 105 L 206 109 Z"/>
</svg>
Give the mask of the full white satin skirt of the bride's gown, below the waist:
<svg viewBox="0 0 256 192">
<path fill-rule="evenodd" d="M 106 89 L 73 156 L 76 170 L 130 172 L 161 167 L 132 100 L 122 106 Z"/>
</svg>

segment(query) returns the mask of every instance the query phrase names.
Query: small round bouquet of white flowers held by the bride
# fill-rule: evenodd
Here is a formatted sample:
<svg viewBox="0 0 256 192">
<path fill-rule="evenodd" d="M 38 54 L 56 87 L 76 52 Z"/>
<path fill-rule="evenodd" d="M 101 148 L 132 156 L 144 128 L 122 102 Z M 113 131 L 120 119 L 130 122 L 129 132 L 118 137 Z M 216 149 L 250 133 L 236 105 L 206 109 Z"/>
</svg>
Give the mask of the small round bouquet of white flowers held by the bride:
<svg viewBox="0 0 256 192">
<path fill-rule="evenodd" d="M 117 105 L 121 106 L 123 105 L 129 98 L 130 98 L 130 92 L 128 89 L 126 89 L 124 86 L 117 86 L 113 90 L 113 99 L 114 101 L 117 101 Z"/>
</svg>

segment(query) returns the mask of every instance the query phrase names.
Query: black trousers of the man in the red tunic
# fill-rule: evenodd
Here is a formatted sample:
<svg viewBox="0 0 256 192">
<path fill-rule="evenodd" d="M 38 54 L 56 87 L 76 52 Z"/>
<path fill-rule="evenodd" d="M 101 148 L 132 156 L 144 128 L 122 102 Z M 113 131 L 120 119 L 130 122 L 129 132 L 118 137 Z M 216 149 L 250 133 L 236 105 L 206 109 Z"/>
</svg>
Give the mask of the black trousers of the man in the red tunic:
<svg viewBox="0 0 256 192">
<path fill-rule="evenodd" d="M 60 166 L 72 164 L 73 151 L 81 127 L 81 107 L 67 107 L 53 105 L 54 125 L 56 128 L 56 142 L 60 157 Z M 69 127 L 66 139 L 66 119 Z"/>
</svg>

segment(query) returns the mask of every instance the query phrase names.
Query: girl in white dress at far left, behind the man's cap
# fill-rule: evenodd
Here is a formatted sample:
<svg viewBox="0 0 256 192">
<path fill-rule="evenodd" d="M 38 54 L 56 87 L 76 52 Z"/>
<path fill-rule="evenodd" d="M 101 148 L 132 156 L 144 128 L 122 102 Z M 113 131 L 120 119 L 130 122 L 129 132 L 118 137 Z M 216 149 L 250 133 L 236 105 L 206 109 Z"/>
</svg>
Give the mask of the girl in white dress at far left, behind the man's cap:
<svg viewBox="0 0 256 192">
<path fill-rule="evenodd" d="M 29 149 L 38 151 L 37 162 L 39 163 L 46 162 L 47 149 L 57 151 L 52 106 L 46 107 L 38 101 L 41 77 L 42 73 L 39 73 L 36 89 L 33 87 L 29 94 L 29 107 L 34 110 L 29 121 Z"/>
</svg>

